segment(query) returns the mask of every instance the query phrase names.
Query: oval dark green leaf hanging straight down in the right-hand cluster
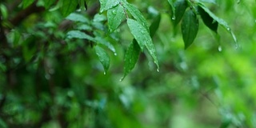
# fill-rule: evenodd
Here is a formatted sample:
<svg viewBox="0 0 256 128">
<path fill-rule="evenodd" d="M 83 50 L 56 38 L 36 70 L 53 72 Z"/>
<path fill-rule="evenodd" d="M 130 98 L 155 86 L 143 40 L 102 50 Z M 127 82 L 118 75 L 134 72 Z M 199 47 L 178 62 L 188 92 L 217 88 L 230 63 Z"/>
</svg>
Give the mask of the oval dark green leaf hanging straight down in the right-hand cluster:
<svg viewBox="0 0 256 128">
<path fill-rule="evenodd" d="M 187 10 L 182 19 L 182 38 L 185 49 L 188 48 L 198 34 L 198 18 L 193 10 Z"/>
</svg>

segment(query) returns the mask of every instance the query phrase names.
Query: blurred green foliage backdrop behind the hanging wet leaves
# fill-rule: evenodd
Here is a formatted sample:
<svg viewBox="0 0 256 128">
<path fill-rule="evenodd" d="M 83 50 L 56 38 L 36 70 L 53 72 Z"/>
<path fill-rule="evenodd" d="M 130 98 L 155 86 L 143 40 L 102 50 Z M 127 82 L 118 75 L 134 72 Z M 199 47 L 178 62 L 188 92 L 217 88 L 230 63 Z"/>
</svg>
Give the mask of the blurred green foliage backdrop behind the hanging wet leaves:
<svg viewBox="0 0 256 128">
<path fill-rule="evenodd" d="M 1 2 L 9 9 L 6 19 L 23 10 L 17 2 Z M 128 2 L 149 23 L 155 11 L 161 14 L 153 38 L 160 71 L 145 51 L 122 82 L 124 54 L 133 39 L 126 23 L 104 38 L 106 13 L 76 12 L 90 26 L 65 24 L 61 10 L 30 14 L 15 26 L 2 19 L 8 43 L 0 42 L 0 127 L 256 127 L 255 1 L 206 3 L 230 25 L 238 44 L 226 29 L 218 26 L 218 37 L 200 20 L 186 50 L 167 1 Z M 87 1 L 88 9 L 95 4 Z M 82 27 L 114 46 L 117 55 L 106 48 L 106 74 L 92 42 L 66 38 Z"/>
</svg>

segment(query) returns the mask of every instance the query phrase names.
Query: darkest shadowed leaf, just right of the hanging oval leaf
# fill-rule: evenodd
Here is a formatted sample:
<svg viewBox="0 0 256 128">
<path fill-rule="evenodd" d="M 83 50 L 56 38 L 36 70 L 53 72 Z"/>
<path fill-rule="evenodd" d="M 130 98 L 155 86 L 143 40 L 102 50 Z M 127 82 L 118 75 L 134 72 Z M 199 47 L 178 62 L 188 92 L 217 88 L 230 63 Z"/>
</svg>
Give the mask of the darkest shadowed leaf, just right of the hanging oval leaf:
<svg viewBox="0 0 256 128">
<path fill-rule="evenodd" d="M 214 20 L 214 18 L 210 17 L 210 14 L 208 14 L 205 10 L 202 9 L 201 6 L 198 6 L 198 12 L 201 15 L 202 22 L 210 28 L 210 30 L 213 30 L 215 33 L 217 33 L 218 30 L 218 22 Z"/>
</svg>

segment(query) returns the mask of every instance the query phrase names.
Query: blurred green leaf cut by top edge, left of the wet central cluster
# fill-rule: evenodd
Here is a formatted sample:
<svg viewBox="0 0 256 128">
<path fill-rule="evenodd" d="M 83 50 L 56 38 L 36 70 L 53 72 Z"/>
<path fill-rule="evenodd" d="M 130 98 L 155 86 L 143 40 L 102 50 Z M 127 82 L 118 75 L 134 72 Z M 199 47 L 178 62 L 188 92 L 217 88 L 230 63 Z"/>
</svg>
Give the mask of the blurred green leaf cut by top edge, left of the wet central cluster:
<svg viewBox="0 0 256 128">
<path fill-rule="evenodd" d="M 61 12 L 64 17 L 68 16 L 74 10 L 76 10 L 78 6 L 78 0 L 62 0 Z"/>
</svg>

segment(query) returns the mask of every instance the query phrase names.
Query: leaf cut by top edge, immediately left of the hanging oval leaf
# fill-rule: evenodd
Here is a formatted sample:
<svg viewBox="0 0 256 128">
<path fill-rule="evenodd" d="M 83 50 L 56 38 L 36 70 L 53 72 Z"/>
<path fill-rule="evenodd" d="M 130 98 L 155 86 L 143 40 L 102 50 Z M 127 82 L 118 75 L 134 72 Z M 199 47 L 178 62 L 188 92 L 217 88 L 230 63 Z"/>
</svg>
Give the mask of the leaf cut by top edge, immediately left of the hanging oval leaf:
<svg viewBox="0 0 256 128">
<path fill-rule="evenodd" d="M 172 14 L 172 21 L 174 26 L 178 25 L 184 15 L 186 8 L 188 7 L 186 0 L 178 0 L 174 2 L 174 14 Z"/>
</svg>

